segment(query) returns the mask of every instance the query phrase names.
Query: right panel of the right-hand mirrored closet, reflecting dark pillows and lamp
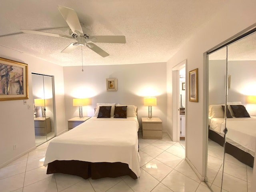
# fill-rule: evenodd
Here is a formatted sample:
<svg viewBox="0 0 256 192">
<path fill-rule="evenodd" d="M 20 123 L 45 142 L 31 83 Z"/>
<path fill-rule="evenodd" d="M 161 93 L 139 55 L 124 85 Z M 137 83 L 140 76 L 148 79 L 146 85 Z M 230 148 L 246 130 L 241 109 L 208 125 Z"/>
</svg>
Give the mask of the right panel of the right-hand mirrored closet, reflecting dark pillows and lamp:
<svg viewBox="0 0 256 192">
<path fill-rule="evenodd" d="M 256 140 L 256 34 L 228 45 L 228 94 L 223 189 L 250 192 Z"/>
</svg>

